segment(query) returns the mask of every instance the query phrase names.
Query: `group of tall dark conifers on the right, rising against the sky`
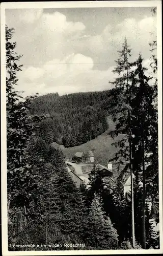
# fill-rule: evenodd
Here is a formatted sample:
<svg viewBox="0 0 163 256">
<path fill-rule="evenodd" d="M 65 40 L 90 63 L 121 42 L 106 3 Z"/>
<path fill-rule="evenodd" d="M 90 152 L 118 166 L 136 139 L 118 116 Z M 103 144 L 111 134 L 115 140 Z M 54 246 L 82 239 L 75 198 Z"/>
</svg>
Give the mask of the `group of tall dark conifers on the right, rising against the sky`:
<svg viewBox="0 0 163 256">
<path fill-rule="evenodd" d="M 142 244 L 142 196 L 146 200 L 146 245 L 155 246 L 151 237 L 152 227 L 150 224 L 149 210 L 147 202 L 158 199 L 158 121 L 157 121 L 157 84 L 143 67 L 142 56 L 134 62 L 129 62 L 131 49 L 124 40 L 122 50 L 119 51 L 119 58 L 116 61 L 117 67 L 114 70 L 118 74 L 113 84 L 114 101 L 111 108 L 114 109 L 114 120 L 116 127 L 111 131 L 113 137 L 124 134 L 123 139 L 114 143 L 120 148 L 114 160 L 124 163 L 125 168 L 122 174 L 130 169 L 132 165 L 135 175 L 134 184 L 134 215 L 135 215 L 135 238 Z M 156 72 L 156 57 L 153 56 L 152 63 L 154 73 Z M 120 113 L 120 114 L 119 114 Z M 131 143 L 131 158 L 129 154 L 129 143 Z M 113 159 L 112 159 L 113 160 Z M 145 180 L 142 176 L 144 173 Z M 120 179 L 122 176 L 120 177 Z M 140 187 L 140 182 L 145 183 L 145 190 Z M 140 192 L 141 191 L 141 192 Z M 128 215 L 127 215 L 128 216 Z M 142 233 L 142 232 L 141 232 Z M 149 243 L 150 240 L 150 243 Z M 152 242 L 153 241 L 153 242 Z"/>
</svg>

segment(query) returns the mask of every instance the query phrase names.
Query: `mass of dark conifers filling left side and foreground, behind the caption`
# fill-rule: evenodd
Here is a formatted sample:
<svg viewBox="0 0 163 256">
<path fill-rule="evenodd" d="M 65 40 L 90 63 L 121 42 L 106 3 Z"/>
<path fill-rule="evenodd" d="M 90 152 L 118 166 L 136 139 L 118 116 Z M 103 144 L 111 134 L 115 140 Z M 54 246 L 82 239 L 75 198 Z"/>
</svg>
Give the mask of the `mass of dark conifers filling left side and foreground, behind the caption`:
<svg viewBox="0 0 163 256">
<path fill-rule="evenodd" d="M 39 245 L 28 250 L 116 249 L 117 231 L 99 199 L 94 197 L 87 207 L 86 188 L 76 188 L 62 151 L 38 137 L 46 116 L 30 115 L 35 97 L 20 100 L 15 91 L 21 56 L 10 41 L 13 32 L 6 27 L 9 250 L 26 250 L 14 244 Z M 84 246 L 64 247 L 64 243 Z"/>
</svg>

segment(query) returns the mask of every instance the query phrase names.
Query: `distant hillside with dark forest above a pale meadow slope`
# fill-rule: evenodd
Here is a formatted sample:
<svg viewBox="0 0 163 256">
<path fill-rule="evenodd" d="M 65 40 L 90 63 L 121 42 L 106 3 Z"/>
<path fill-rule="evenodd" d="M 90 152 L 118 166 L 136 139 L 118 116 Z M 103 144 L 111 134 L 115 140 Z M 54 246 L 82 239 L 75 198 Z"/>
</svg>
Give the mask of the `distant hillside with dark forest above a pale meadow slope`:
<svg viewBox="0 0 163 256">
<path fill-rule="evenodd" d="M 111 95 L 110 90 L 36 98 L 31 112 L 49 115 L 40 124 L 38 137 L 47 145 L 64 145 L 63 153 L 70 161 L 76 152 L 88 150 L 93 152 L 95 162 L 106 165 L 119 150 L 112 143 L 123 137 L 113 139 L 108 135 L 115 128 Z"/>
</svg>

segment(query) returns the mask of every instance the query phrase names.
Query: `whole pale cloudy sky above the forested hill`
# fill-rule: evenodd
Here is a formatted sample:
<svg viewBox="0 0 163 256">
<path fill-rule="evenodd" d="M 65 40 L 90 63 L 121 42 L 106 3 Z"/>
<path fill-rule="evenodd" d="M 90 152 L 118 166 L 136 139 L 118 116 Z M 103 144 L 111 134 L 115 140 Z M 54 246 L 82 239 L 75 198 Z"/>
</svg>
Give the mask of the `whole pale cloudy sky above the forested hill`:
<svg viewBox="0 0 163 256">
<path fill-rule="evenodd" d="M 15 29 L 16 52 L 23 55 L 23 96 L 111 89 L 124 38 L 131 61 L 141 53 L 148 66 L 156 36 L 151 7 L 6 9 L 6 24 Z"/>
</svg>

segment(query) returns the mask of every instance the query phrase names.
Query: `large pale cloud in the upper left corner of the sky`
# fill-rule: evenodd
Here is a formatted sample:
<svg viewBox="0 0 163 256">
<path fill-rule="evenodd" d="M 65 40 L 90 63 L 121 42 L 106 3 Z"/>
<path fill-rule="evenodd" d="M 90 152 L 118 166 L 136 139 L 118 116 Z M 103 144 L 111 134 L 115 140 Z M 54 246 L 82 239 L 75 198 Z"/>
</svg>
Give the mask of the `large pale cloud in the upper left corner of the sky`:
<svg viewBox="0 0 163 256">
<path fill-rule="evenodd" d="M 23 64 L 33 66 L 74 54 L 77 38 L 86 28 L 81 22 L 68 21 L 60 12 L 43 13 L 41 9 L 8 11 L 7 25 L 13 24 L 13 39 L 23 54 Z"/>
</svg>

